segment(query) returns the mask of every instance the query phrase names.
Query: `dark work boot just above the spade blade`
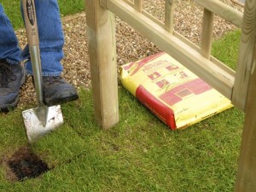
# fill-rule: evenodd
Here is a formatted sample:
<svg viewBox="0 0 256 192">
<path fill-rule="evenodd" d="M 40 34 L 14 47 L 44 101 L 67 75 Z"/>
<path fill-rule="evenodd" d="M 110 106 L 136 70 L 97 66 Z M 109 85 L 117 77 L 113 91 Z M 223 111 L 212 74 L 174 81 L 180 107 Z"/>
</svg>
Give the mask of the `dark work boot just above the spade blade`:
<svg viewBox="0 0 256 192">
<path fill-rule="evenodd" d="M 64 102 L 71 102 L 79 98 L 77 90 L 67 81 L 56 76 L 43 77 L 44 103 L 54 106 Z"/>
</svg>

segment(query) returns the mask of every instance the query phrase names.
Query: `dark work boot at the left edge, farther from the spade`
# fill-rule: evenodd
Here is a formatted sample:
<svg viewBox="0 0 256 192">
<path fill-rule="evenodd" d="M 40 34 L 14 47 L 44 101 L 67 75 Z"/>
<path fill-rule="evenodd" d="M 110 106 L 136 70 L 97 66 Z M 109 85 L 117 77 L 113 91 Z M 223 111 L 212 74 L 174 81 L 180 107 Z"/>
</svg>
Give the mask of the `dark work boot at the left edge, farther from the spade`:
<svg viewBox="0 0 256 192">
<path fill-rule="evenodd" d="M 25 79 L 23 66 L 0 60 L 0 110 L 2 112 L 7 112 L 17 106 L 20 87 Z"/>
</svg>

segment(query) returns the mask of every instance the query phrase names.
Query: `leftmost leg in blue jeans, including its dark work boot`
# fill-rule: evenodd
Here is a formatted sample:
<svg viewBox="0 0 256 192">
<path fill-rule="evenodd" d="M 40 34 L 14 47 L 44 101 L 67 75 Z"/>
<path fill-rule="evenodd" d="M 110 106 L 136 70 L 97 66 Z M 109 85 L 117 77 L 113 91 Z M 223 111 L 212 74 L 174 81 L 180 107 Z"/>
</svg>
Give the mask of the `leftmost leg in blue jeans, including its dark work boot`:
<svg viewBox="0 0 256 192">
<path fill-rule="evenodd" d="M 19 90 L 25 82 L 20 65 L 20 48 L 15 31 L 0 3 L 0 110 L 7 111 L 19 102 Z"/>
</svg>

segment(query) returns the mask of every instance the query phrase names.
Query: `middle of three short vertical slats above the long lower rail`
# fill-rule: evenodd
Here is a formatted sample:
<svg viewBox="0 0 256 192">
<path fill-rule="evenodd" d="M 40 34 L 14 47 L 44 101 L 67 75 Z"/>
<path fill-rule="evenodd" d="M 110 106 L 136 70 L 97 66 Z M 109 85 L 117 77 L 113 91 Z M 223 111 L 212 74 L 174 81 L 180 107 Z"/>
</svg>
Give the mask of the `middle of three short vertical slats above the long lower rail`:
<svg viewBox="0 0 256 192">
<path fill-rule="evenodd" d="M 173 20 L 174 20 L 175 0 L 166 0 L 165 7 L 165 28 L 167 32 L 173 34 Z"/>
</svg>

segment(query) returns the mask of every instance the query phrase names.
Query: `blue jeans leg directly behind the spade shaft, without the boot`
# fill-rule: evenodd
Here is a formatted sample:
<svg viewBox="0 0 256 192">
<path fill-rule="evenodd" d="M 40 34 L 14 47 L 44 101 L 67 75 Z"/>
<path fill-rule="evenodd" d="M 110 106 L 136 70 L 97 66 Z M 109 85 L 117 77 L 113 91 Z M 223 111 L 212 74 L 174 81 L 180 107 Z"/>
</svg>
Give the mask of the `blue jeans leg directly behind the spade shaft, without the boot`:
<svg viewBox="0 0 256 192">
<path fill-rule="evenodd" d="M 35 0 L 35 7 L 43 76 L 59 76 L 62 72 L 64 38 L 57 0 Z M 22 56 L 29 57 L 27 47 Z M 27 61 L 25 67 L 27 73 L 32 74 L 31 61 Z"/>
</svg>

